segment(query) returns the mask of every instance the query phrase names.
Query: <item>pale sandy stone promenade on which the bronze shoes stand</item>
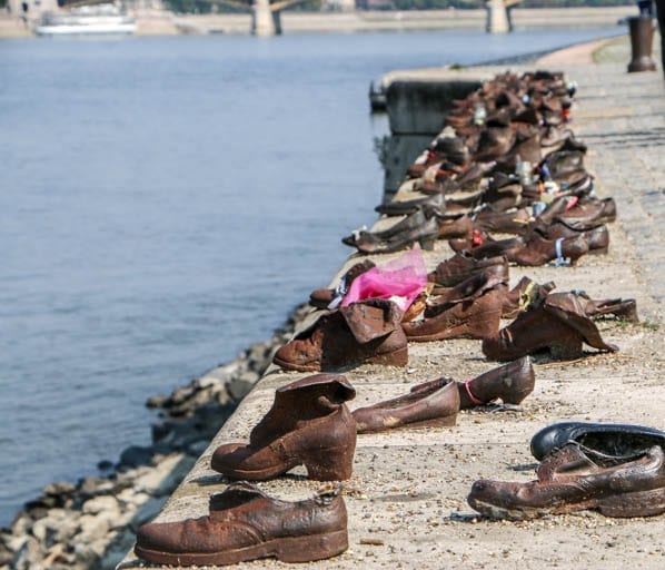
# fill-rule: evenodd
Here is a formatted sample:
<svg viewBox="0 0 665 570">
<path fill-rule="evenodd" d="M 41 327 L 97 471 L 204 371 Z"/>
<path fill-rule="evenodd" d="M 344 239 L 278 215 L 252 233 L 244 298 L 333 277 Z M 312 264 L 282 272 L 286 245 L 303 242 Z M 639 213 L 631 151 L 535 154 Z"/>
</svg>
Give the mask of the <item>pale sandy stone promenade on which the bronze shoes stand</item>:
<svg viewBox="0 0 665 570">
<path fill-rule="evenodd" d="M 658 43 L 656 36 L 654 46 Z M 659 55 L 655 55 L 659 58 Z M 577 47 L 519 67 L 563 70 L 578 83 L 572 128 L 588 145 L 587 168 L 599 197 L 613 196 L 617 220 L 605 256 L 584 256 L 576 267 L 515 267 L 512 285 L 527 275 L 554 281 L 556 291 L 584 289 L 592 298 L 636 298 L 638 324 L 599 323 L 617 353 L 535 365 L 535 391 L 520 411 L 461 412 L 453 428 L 387 431 L 358 436 L 353 478 L 344 483 L 349 549 L 311 569 L 665 568 L 665 517 L 611 519 L 583 512 L 530 521 L 483 519 L 467 504 L 478 479 L 535 479 L 534 433 L 555 422 L 606 421 L 665 429 L 663 295 L 665 255 L 665 81 L 656 72 L 627 73 L 627 38 Z M 507 66 L 478 68 L 492 77 Z M 378 184 L 378 180 L 377 180 Z M 368 218 L 373 213 L 367 213 Z M 340 237 L 348 228 L 340 228 Z M 295 229 L 296 230 L 296 229 Z M 439 240 L 425 252 L 428 268 L 453 252 Z M 371 256 L 381 264 L 400 254 Z M 351 256 L 339 275 L 358 257 Z M 337 277 L 339 277 L 339 275 Z M 321 276 L 320 286 L 330 281 Z M 336 283 L 336 279 L 334 279 Z M 304 299 L 305 301 L 305 299 Z M 301 328 L 307 326 L 307 321 Z M 498 364 L 478 341 L 409 344 L 405 370 L 364 365 L 345 375 L 356 387 L 350 407 L 408 392 L 439 376 L 476 376 Z M 228 484 L 210 469 L 220 444 L 247 441 L 270 407 L 275 389 L 307 374 L 269 368 L 225 424 L 157 521 L 207 514 L 208 499 Z M 268 494 L 304 499 L 321 488 L 305 471 L 259 483 Z M 139 568 L 128 554 L 120 568 Z M 241 568 L 291 568 L 264 560 Z M 295 567 L 294 567 L 295 568 Z"/>
</svg>

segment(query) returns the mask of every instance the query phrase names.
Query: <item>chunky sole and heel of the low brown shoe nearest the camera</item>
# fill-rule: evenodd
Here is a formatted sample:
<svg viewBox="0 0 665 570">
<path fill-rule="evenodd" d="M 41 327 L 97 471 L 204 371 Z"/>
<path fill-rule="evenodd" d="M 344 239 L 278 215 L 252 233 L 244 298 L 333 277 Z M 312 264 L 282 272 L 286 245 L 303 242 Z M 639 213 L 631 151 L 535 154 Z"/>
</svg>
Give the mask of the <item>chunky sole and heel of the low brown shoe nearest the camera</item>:
<svg viewBox="0 0 665 570">
<path fill-rule="evenodd" d="M 340 554 L 348 549 L 346 530 L 325 534 L 308 534 L 296 538 L 274 539 L 260 544 L 225 550 L 222 552 L 163 552 L 135 547 L 135 553 L 142 560 L 170 566 L 228 566 L 275 557 L 281 562 L 311 562 Z"/>
</svg>

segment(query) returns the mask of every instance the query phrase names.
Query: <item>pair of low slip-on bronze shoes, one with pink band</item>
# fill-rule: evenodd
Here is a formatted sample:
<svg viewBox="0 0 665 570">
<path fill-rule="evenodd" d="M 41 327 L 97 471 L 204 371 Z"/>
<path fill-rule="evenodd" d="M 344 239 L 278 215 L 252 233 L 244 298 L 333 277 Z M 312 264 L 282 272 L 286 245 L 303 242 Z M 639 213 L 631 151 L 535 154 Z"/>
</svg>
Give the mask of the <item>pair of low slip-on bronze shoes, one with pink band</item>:
<svg viewBox="0 0 665 570">
<path fill-rule="evenodd" d="M 534 367 L 528 356 L 490 370 L 466 382 L 440 377 L 414 386 L 408 394 L 358 407 L 353 415 L 358 433 L 397 428 L 455 425 L 459 410 L 500 399 L 519 404 L 534 390 Z"/>
</svg>

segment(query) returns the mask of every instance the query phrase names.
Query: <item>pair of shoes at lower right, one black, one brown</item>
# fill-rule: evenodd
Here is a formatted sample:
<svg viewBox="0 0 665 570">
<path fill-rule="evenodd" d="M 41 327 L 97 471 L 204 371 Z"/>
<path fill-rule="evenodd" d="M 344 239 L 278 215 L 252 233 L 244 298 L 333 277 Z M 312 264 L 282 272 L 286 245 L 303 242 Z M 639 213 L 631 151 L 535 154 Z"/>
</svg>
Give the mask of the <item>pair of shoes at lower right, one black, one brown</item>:
<svg viewBox="0 0 665 570">
<path fill-rule="evenodd" d="M 555 424 L 532 441 L 534 454 L 542 459 L 535 481 L 479 480 L 468 503 L 486 517 L 510 520 L 583 510 L 621 518 L 662 514 L 663 444 L 665 433 L 649 428 Z"/>
</svg>

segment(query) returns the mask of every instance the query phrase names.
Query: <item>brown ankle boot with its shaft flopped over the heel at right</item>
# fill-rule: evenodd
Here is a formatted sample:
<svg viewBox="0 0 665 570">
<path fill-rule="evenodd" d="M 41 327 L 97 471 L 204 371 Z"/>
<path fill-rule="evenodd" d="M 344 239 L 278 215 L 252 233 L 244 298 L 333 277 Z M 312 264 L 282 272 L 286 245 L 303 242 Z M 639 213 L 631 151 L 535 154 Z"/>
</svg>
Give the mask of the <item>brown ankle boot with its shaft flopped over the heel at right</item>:
<svg viewBox="0 0 665 570">
<path fill-rule="evenodd" d="M 586 343 L 601 351 L 615 352 L 607 344 L 574 292 L 550 293 L 542 305 L 520 313 L 497 335 L 483 340 L 483 353 L 496 361 L 512 361 L 548 350 L 556 360 L 572 360 L 582 355 Z"/>
</svg>

